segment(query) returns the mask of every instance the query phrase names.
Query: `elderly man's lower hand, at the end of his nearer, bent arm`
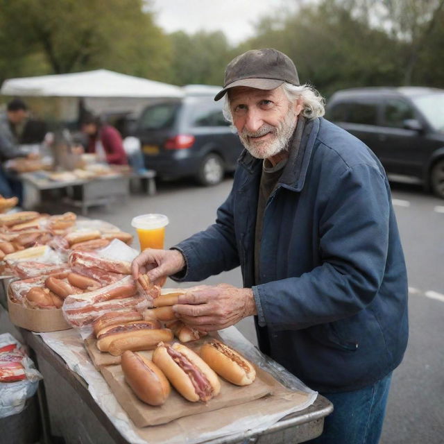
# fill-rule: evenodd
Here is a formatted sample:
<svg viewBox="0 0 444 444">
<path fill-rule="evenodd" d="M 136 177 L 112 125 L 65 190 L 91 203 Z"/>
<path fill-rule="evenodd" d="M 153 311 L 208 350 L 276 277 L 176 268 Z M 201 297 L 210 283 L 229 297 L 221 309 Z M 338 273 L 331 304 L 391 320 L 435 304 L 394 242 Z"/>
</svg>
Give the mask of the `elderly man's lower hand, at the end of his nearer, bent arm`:
<svg viewBox="0 0 444 444">
<path fill-rule="evenodd" d="M 257 314 L 253 290 L 228 284 L 191 287 L 179 296 L 179 303 L 173 309 L 181 321 L 204 332 L 230 327 L 246 316 Z"/>
</svg>

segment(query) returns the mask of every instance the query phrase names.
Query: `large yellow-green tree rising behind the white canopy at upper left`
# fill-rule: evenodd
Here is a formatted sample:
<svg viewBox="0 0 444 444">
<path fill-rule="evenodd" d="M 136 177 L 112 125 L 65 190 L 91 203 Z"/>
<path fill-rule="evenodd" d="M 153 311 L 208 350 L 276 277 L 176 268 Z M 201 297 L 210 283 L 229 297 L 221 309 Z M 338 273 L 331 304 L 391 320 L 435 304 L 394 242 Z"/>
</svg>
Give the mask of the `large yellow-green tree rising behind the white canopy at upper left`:
<svg viewBox="0 0 444 444">
<path fill-rule="evenodd" d="M 169 42 L 142 0 L 3 0 L 1 10 L 0 46 L 12 60 L 40 54 L 56 74 L 105 67 L 161 78 L 167 69 Z"/>
</svg>

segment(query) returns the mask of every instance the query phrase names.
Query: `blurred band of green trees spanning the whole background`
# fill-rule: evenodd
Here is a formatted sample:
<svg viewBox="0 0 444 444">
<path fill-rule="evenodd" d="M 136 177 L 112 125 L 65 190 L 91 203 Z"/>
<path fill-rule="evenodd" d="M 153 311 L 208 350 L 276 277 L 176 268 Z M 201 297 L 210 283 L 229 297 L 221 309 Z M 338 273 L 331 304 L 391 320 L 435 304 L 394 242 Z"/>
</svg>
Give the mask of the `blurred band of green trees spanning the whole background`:
<svg viewBox="0 0 444 444">
<path fill-rule="evenodd" d="M 288 5 L 257 20 L 255 35 L 233 47 L 220 31 L 165 35 L 149 0 L 0 0 L 0 80 L 108 68 L 221 85 L 234 56 L 275 47 L 325 96 L 362 85 L 444 87 L 444 0 Z"/>
</svg>

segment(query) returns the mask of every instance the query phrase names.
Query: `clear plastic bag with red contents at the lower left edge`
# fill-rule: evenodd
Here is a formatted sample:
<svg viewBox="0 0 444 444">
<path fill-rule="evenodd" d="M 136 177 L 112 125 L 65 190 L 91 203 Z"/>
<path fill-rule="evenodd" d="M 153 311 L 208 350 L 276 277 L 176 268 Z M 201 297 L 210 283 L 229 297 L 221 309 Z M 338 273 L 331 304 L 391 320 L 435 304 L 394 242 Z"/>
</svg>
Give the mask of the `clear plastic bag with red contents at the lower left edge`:
<svg viewBox="0 0 444 444">
<path fill-rule="evenodd" d="M 42 379 L 33 361 L 22 351 L 22 345 L 11 334 L 4 333 L 0 334 L 0 381 L 14 379 L 12 375 L 20 380 L 0 382 L 0 418 L 20 413 Z"/>
</svg>

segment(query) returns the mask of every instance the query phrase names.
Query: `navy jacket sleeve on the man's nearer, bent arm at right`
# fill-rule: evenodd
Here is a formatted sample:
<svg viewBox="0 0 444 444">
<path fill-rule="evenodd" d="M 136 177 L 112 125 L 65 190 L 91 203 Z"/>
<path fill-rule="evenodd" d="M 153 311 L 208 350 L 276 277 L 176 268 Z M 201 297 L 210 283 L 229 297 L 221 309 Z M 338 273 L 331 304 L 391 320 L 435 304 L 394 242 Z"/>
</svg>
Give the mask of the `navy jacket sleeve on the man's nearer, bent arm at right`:
<svg viewBox="0 0 444 444">
<path fill-rule="evenodd" d="M 390 213 L 391 195 L 379 169 L 346 169 L 318 216 L 321 264 L 298 278 L 253 287 L 263 310 L 259 325 L 299 330 L 364 309 L 384 277 Z"/>
</svg>

